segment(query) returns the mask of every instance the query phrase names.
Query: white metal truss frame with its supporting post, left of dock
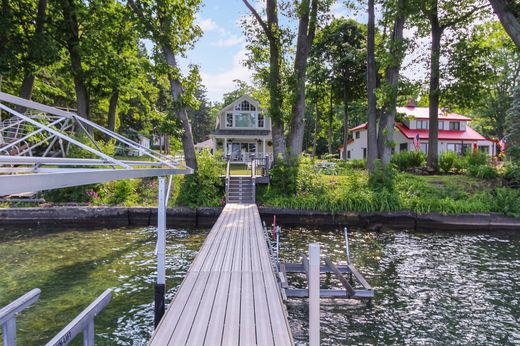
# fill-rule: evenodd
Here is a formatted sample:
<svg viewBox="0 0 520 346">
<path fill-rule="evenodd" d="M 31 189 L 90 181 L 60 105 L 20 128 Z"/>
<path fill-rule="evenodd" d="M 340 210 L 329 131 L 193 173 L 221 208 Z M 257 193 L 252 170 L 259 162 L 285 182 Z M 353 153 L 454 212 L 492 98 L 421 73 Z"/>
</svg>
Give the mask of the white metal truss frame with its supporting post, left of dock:
<svg viewBox="0 0 520 346">
<path fill-rule="evenodd" d="M 29 112 L 22 114 L 8 105 L 20 106 Z M 9 115 L 7 122 L 2 121 L 2 111 Z M 2 134 L 6 130 L 12 132 L 14 127 L 16 136 L 6 141 Z M 26 132 L 19 132 L 20 127 Z M 74 131 L 88 138 L 90 145 L 73 138 Z M 96 143 L 92 135 L 94 131 L 126 148 L 138 150 L 149 161 L 120 160 L 107 155 Z M 94 158 L 67 157 L 72 146 Z M 36 149 L 40 150 L 39 156 L 33 155 Z M 73 112 L 0 92 L 0 196 L 122 179 L 158 177 L 155 326 L 165 311 L 166 207 L 172 176 L 191 173 L 191 168 L 177 160 L 154 152 Z"/>
</svg>

